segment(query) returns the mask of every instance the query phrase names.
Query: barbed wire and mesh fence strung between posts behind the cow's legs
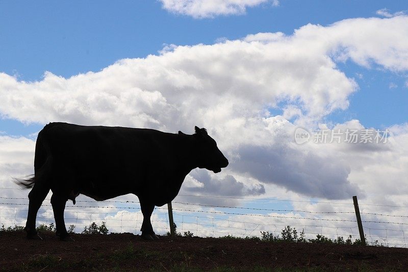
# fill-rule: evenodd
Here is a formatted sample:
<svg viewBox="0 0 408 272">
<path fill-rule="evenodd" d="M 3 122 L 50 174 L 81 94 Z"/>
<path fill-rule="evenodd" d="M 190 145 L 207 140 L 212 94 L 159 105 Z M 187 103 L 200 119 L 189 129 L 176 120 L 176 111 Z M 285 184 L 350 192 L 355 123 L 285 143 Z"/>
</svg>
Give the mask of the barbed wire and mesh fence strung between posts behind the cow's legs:
<svg viewBox="0 0 408 272">
<path fill-rule="evenodd" d="M 0 188 L 14 189 L 14 188 Z M 305 238 L 313 239 L 316 235 L 327 238 L 337 237 L 360 238 L 353 203 L 296 201 L 277 199 L 255 199 L 248 197 L 225 197 L 207 195 L 180 195 L 190 197 L 191 202 L 173 201 L 173 217 L 177 232 L 194 233 L 201 237 L 220 237 L 232 235 L 237 237 L 262 237 L 262 232 L 269 232 L 275 237 L 287 226 L 296 228 L 298 233 L 304 231 Z M 310 211 L 299 209 L 268 209 L 227 205 L 208 205 L 194 203 L 194 199 L 223 198 L 239 199 L 251 202 L 304 202 L 312 204 L 329 204 L 342 206 L 342 211 Z M 130 232 L 140 234 L 143 215 L 138 201 L 88 201 L 77 200 L 77 205 L 65 209 L 65 224 L 73 226 L 75 232 L 82 232 L 92 222 L 106 222 L 110 232 Z M 272 206 L 272 205 L 271 205 Z M 382 206 L 390 208 L 407 208 L 406 206 L 387 206 L 360 204 L 360 206 Z M 265 207 L 265 205 L 263 205 Z M 25 226 L 28 212 L 28 198 L 0 196 L 0 227 Z M 170 232 L 167 207 L 156 207 L 151 222 L 158 234 Z M 406 248 L 408 234 L 408 215 L 360 212 L 363 229 L 369 244 L 382 244 Z M 54 223 L 54 214 L 49 199 L 45 199 L 37 214 L 37 226 Z M 406 234 L 405 234 L 406 233 Z"/>
</svg>

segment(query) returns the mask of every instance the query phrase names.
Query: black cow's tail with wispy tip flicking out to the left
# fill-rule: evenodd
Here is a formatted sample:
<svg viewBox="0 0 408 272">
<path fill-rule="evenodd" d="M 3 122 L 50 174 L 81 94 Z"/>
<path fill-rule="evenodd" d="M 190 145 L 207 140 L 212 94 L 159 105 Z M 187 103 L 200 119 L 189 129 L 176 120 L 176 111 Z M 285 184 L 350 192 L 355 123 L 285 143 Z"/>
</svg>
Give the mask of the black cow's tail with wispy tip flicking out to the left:
<svg viewBox="0 0 408 272">
<path fill-rule="evenodd" d="M 45 128 L 44 128 L 45 129 Z M 38 134 L 35 144 L 35 158 L 34 158 L 34 175 L 29 176 L 27 179 L 13 178 L 13 181 L 23 188 L 32 188 L 38 181 L 46 182 L 47 175 L 50 170 L 51 154 L 49 147 L 43 141 L 42 131 Z"/>
</svg>

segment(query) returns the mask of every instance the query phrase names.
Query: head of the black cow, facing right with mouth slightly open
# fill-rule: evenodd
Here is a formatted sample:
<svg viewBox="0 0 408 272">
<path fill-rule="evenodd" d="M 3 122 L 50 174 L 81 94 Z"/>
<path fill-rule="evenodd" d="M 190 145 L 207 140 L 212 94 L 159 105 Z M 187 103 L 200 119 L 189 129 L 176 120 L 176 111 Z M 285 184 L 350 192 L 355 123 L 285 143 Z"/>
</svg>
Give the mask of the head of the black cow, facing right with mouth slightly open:
<svg viewBox="0 0 408 272">
<path fill-rule="evenodd" d="M 206 129 L 195 127 L 193 136 L 197 143 L 196 154 L 199 168 L 206 168 L 218 173 L 221 168 L 228 165 L 228 160 L 218 149 L 215 140 L 208 135 Z"/>
</svg>

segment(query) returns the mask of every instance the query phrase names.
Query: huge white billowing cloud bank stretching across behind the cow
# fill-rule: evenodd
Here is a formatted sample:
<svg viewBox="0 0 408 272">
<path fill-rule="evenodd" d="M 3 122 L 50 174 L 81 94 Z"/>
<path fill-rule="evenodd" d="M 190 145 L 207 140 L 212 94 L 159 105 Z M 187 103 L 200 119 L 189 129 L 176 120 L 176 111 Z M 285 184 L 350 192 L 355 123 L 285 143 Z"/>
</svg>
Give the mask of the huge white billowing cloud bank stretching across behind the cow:
<svg viewBox="0 0 408 272">
<path fill-rule="evenodd" d="M 293 131 L 317 127 L 327 114 L 348 107 L 359 87 L 337 62 L 405 71 L 407 50 L 407 16 L 308 24 L 293 35 L 259 33 L 213 45 L 169 45 L 158 56 L 122 59 L 71 78 L 46 72 L 40 81 L 24 82 L 0 73 L 0 112 L 23 122 L 185 133 L 206 127 L 231 163 L 223 176 L 193 177 L 202 191 L 219 193 L 225 183 L 235 195 L 257 195 L 274 184 L 340 199 L 363 192 L 353 160 L 337 153 L 390 151 L 295 145 Z M 275 108 L 283 115 L 272 116 Z"/>
</svg>

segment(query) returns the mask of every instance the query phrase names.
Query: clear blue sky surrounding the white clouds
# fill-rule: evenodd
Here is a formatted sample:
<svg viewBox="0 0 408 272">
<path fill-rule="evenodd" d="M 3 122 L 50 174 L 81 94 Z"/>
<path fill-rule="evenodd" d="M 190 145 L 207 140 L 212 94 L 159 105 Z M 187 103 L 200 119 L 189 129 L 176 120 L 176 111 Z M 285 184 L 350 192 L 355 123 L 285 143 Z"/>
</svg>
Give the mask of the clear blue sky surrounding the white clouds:
<svg viewBox="0 0 408 272">
<path fill-rule="evenodd" d="M 290 35 L 308 23 L 326 26 L 346 18 L 378 16 L 376 11 L 383 8 L 397 12 L 408 5 L 405 1 L 283 0 L 277 7 L 263 3 L 247 8 L 242 15 L 195 19 L 168 12 L 159 1 L 1 1 L 0 71 L 23 81 L 41 80 L 45 71 L 68 78 L 99 71 L 119 59 L 158 54 L 164 44 L 213 44 L 220 38 L 234 40 L 259 32 Z M 366 69 L 349 61 L 338 65 L 356 79 L 360 89 L 350 96 L 347 110 L 330 114 L 327 121 L 356 118 L 375 128 L 407 121 L 405 73 Z M 26 135 L 42 124 L 23 126 L 3 119 L 0 127 L 10 135 Z"/>
</svg>

